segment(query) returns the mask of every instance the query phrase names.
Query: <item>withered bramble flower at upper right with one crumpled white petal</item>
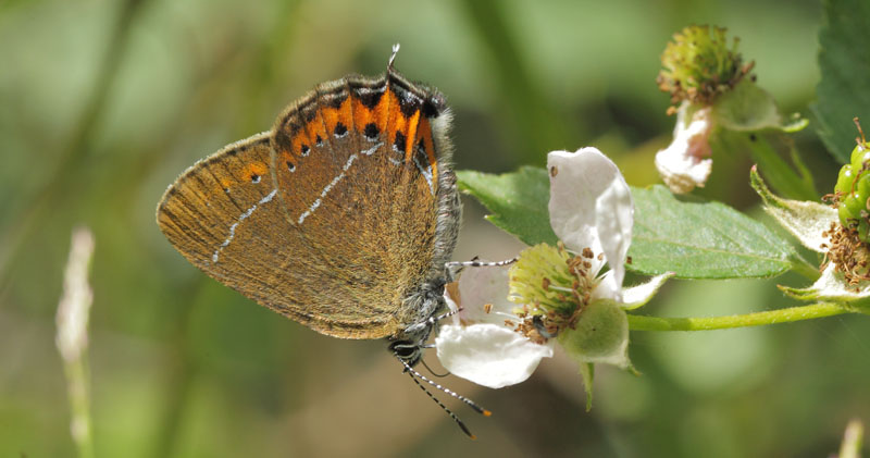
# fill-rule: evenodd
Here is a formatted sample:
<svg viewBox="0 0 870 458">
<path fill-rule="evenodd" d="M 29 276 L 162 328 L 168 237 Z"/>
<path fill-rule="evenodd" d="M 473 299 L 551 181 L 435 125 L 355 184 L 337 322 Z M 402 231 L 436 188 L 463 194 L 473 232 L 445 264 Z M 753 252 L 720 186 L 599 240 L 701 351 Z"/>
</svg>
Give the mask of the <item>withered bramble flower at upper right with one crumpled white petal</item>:
<svg viewBox="0 0 870 458">
<path fill-rule="evenodd" d="M 674 194 L 704 187 L 712 170 L 710 138 L 722 131 L 796 132 L 807 121 L 785 120 L 773 97 L 749 75 L 737 39 L 731 47 L 725 29 L 689 26 L 678 32 L 661 55 L 659 89 L 671 95 L 668 114 L 678 113 L 673 140 L 656 154 L 656 168 Z"/>
</svg>

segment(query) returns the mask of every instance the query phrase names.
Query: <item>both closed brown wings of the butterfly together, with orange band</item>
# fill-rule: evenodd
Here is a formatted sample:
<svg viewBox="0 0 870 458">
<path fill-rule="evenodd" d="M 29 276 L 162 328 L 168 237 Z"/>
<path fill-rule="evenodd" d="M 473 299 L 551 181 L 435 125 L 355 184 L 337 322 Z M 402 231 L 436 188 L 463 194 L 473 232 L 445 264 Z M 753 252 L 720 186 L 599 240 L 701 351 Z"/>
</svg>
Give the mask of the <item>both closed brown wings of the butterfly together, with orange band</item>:
<svg viewBox="0 0 870 458">
<path fill-rule="evenodd" d="M 403 298 L 442 271 L 452 240 L 434 252 L 428 119 L 387 81 L 321 85 L 279 116 L 274 134 L 190 168 L 159 206 L 163 233 L 210 276 L 315 331 L 397 334 L 413 317 Z"/>
</svg>

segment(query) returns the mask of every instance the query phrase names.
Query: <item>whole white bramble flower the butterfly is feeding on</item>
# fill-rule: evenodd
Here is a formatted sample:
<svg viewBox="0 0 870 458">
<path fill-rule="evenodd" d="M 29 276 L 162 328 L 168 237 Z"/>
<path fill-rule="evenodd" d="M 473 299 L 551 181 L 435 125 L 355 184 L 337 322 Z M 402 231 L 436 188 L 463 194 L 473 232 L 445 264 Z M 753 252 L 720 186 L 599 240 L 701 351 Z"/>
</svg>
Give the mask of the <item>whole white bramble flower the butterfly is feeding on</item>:
<svg viewBox="0 0 870 458">
<path fill-rule="evenodd" d="M 627 368 L 624 310 L 645 304 L 669 276 L 622 288 L 634 205 L 610 159 L 595 148 L 554 151 L 547 168 L 550 225 L 559 245 L 523 250 L 509 271 L 465 272 L 448 293 L 462 311 L 442 326 L 438 359 L 455 375 L 484 386 L 524 381 L 552 355 L 555 342 L 582 370 L 596 362 Z"/>
</svg>

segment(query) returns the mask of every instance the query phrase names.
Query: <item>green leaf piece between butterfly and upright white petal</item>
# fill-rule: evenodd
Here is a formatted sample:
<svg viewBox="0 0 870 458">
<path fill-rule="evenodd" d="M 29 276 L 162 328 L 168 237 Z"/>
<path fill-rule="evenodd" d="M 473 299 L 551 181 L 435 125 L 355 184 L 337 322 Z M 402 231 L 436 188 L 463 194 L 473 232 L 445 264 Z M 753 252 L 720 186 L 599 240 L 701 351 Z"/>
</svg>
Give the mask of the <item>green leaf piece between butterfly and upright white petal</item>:
<svg viewBox="0 0 870 458">
<path fill-rule="evenodd" d="M 459 189 L 474 196 L 492 214 L 486 219 L 527 245 L 556 245 L 547 205 L 550 182 L 544 169 L 524 166 L 493 175 L 459 171 Z"/>
</svg>

